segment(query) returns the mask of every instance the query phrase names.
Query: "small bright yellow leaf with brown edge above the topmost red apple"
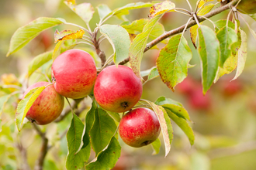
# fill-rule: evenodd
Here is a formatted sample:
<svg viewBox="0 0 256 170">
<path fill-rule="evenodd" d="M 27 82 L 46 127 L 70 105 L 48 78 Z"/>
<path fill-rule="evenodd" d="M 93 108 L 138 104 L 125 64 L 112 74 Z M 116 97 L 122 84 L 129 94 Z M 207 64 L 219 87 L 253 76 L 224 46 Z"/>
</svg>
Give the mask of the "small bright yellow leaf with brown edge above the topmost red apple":
<svg viewBox="0 0 256 170">
<path fill-rule="evenodd" d="M 85 31 L 82 29 L 79 29 L 77 32 L 69 29 L 59 32 L 56 29 L 54 33 L 54 39 L 55 39 L 55 42 L 61 41 L 61 40 L 67 40 L 67 39 L 81 39 L 84 34 L 85 34 Z"/>
</svg>

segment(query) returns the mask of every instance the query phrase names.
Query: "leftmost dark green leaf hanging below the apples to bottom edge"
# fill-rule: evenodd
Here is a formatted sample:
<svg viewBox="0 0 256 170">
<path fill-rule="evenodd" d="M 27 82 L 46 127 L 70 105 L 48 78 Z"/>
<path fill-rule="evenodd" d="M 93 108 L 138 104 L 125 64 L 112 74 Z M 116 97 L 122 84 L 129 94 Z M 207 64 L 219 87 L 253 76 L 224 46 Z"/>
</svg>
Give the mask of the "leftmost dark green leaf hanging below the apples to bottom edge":
<svg viewBox="0 0 256 170">
<path fill-rule="evenodd" d="M 67 131 L 67 170 L 82 168 L 84 166 L 84 163 L 88 161 L 88 158 L 90 156 L 90 145 L 76 153 L 81 145 L 84 126 L 85 125 L 81 122 L 80 118 L 77 115 L 73 114 L 71 126 Z"/>
</svg>

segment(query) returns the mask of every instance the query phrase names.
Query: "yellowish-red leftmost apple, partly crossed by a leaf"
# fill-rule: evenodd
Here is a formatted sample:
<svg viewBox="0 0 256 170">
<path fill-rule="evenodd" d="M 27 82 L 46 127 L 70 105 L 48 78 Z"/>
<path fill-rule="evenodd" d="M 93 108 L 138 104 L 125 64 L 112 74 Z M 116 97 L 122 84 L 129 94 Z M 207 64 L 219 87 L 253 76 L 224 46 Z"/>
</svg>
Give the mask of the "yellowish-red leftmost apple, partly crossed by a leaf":
<svg viewBox="0 0 256 170">
<path fill-rule="evenodd" d="M 50 83 L 34 83 L 25 91 L 23 98 L 26 96 L 26 93 L 29 93 L 30 90 L 36 87 L 47 86 L 48 84 Z M 40 93 L 39 97 L 36 98 L 36 101 L 27 112 L 26 118 L 31 122 L 36 122 L 36 124 L 49 124 L 61 114 L 63 107 L 64 97 L 54 90 L 53 85 L 50 85 L 45 88 L 42 93 Z"/>
</svg>

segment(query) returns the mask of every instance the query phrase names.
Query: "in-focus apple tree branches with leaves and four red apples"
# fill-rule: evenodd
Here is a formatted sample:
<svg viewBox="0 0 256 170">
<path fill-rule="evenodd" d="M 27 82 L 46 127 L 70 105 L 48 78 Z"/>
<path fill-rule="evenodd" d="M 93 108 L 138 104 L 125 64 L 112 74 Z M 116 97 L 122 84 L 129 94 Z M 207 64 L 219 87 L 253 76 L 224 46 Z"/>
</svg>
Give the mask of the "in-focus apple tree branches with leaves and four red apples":
<svg viewBox="0 0 256 170">
<path fill-rule="evenodd" d="M 22 82 L 1 84 L 0 115 L 14 97 L 19 100 L 17 130 L 22 131 L 22 126 L 30 121 L 28 124 L 40 135 L 42 146 L 34 169 L 43 169 L 47 152 L 54 148 L 39 125 L 59 124 L 68 115 L 72 115 L 70 127 L 61 134 L 61 138 L 67 138 L 67 170 L 114 168 L 121 155 L 121 140 L 133 147 L 151 145 L 154 154 L 164 145 L 167 156 L 175 134 L 172 122 L 182 129 L 190 145 L 194 144 L 192 121 L 185 107 L 173 98 L 141 98 L 143 85 L 160 77 L 175 92 L 176 85 L 194 67 L 189 63 L 193 54 L 188 41 L 199 54 L 202 94 L 225 74 L 235 72 L 236 80 L 247 59 L 247 34 L 240 22 L 247 24 L 244 15 L 256 20 L 256 1 L 199 0 L 195 9 L 189 0 L 183 1 L 189 9 L 179 8 L 171 1 L 130 3 L 112 10 L 106 4 L 93 7 L 88 2 L 66 0 L 67 8 L 83 20 L 83 26 L 62 18 L 40 17 L 13 33 L 9 57 L 46 29 L 60 25 L 77 28 L 56 29 L 55 48 L 33 58 Z M 126 19 L 131 10 L 141 8 L 148 9 L 148 18 Z M 210 19 L 224 11 L 229 11 L 227 19 Z M 95 12 L 99 13 L 99 20 L 92 27 L 89 22 Z M 187 15 L 188 19 L 182 26 L 164 30 L 159 21 L 171 12 Z M 112 24 L 111 19 L 116 18 L 123 22 Z M 211 26 L 205 25 L 206 20 Z M 256 40 L 254 30 L 249 24 L 247 27 Z M 185 31 L 190 32 L 190 37 L 185 36 Z M 103 41 L 112 46 L 112 55 L 102 50 Z M 78 45 L 85 49 L 76 49 Z M 152 49 L 160 49 L 156 66 L 142 70 L 144 53 Z M 48 83 L 30 87 L 29 78 L 36 72 Z M 84 100 L 90 100 L 89 110 L 79 107 Z M 85 116 L 79 116 L 85 110 Z"/>
</svg>

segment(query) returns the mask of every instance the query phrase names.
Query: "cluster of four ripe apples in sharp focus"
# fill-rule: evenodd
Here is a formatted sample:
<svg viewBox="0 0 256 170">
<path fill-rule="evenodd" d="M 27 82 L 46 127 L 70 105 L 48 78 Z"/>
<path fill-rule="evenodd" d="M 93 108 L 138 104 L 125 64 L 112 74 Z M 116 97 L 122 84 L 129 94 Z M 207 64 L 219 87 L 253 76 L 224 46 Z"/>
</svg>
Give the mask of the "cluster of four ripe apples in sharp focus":
<svg viewBox="0 0 256 170">
<path fill-rule="evenodd" d="M 140 107 L 131 110 L 140 100 L 142 83 L 128 66 L 107 66 L 97 76 L 92 56 L 80 49 L 70 49 L 54 60 L 52 83 L 38 82 L 24 93 L 36 87 L 47 86 L 30 107 L 26 118 L 36 124 L 49 124 L 62 112 L 64 97 L 78 99 L 94 93 L 103 109 L 125 114 L 119 123 L 123 141 L 133 147 L 141 147 L 155 141 L 161 131 L 153 110 Z"/>
</svg>

